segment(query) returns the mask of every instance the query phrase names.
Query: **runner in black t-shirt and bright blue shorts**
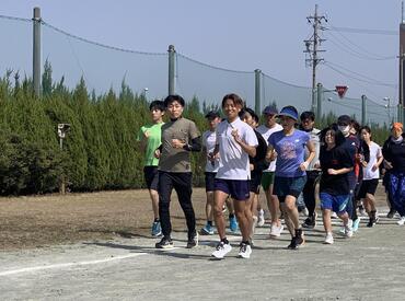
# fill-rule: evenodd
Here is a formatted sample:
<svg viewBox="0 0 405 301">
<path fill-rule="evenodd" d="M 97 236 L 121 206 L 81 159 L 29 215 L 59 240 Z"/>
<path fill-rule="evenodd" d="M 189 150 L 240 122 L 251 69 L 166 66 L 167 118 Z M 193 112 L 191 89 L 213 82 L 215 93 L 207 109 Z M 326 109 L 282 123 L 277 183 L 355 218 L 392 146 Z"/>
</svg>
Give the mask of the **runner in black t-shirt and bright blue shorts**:
<svg viewBox="0 0 405 301">
<path fill-rule="evenodd" d="M 351 201 L 348 173 L 354 169 L 354 158 L 350 149 L 344 147 L 345 137 L 337 130 L 336 126 L 322 130 L 321 140 L 323 142 L 320 153 L 322 169 L 321 209 L 326 232 L 325 244 L 333 244 L 332 211 L 336 212 L 343 220 L 346 236 L 352 235 L 347 206 Z"/>
</svg>

